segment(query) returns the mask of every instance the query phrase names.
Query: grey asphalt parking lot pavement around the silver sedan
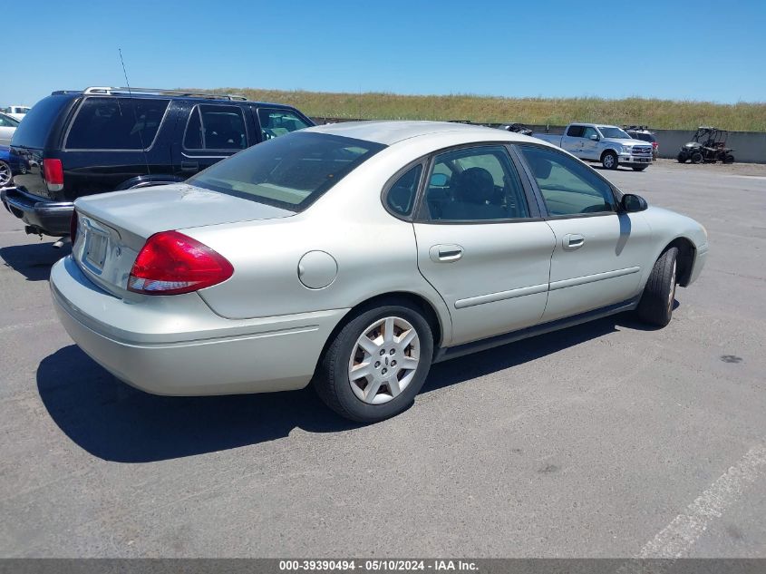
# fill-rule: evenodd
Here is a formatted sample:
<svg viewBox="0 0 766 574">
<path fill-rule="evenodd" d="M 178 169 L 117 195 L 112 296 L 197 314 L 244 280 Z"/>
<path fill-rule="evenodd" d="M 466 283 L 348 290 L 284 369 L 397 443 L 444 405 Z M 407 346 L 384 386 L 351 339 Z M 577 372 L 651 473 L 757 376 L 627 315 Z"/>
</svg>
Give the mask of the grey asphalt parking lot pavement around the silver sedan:
<svg viewBox="0 0 766 574">
<path fill-rule="evenodd" d="M 121 384 L 55 319 L 65 251 L 0 212 L 0 556 L 766 557 L 766 170 L 601 172 L 708 230 L 670 326 L 436 365 L 371 426 Z"/>
</svg>

